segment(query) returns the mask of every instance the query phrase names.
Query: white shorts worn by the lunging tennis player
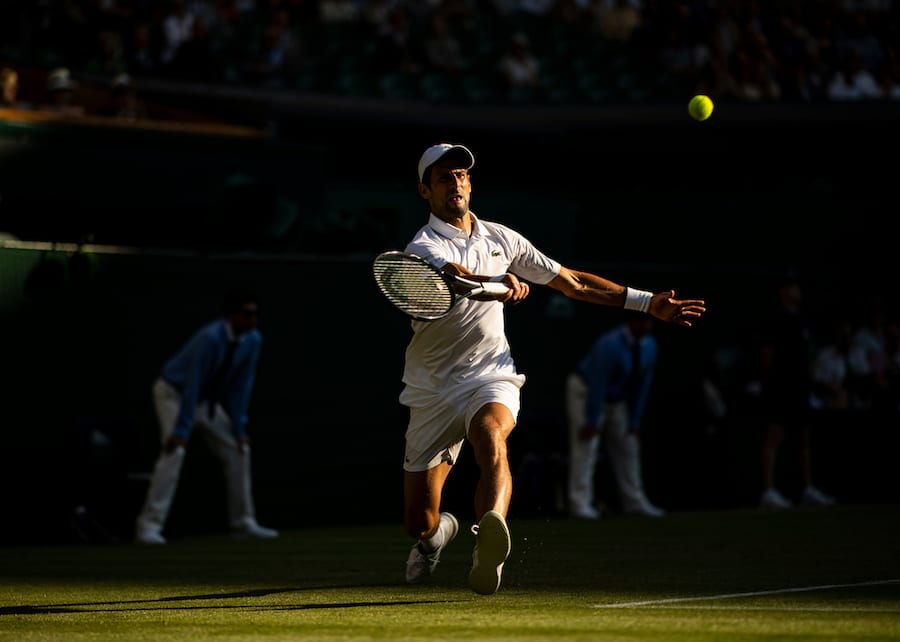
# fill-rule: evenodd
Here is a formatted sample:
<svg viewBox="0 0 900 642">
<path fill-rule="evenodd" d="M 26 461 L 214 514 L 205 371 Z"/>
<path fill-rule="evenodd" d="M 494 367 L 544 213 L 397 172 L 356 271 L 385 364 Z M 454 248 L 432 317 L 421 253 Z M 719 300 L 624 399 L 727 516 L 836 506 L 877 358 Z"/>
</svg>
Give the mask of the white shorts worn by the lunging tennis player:
<svg viewBox="0 0 900 642">
<path fill-rule="evenodd" d="M 501 403 L 513 419 L 518 418 L 521 385 L 521 382 L 501 380 L 436 395 L 404 391 L 401 401 L 409 407 L 409 426 L 403 470 L 421 472 L 442 462 L 455 464 L 469 425 L 485 404 Z"/>
</svg>

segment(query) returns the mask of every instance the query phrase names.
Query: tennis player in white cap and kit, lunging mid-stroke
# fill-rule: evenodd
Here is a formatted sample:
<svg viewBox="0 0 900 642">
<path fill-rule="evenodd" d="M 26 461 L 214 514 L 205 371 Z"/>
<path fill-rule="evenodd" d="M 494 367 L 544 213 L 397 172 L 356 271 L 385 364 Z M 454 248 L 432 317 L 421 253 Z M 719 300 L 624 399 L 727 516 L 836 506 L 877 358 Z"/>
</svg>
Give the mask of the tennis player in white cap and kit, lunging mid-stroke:
<svg viewBox="0 0 900 642">
<path fill-rule="evenodd" d="M 406 251 L 451 274 L 502 282 L 509 291 L 465 299 L 436 321 L 412 321 L 400 394 L 400 403 L 409 408 L 404 523 L 416 540 L 406 580 L 426 580 L 459 531 L 457 519 L 441 512 L 441 493 L 468 439 L 479 468 L 469 585 L 491 595 L 500 588 L 512 547 L 506 522 L 512 497 L 507 439 L 525 383 L 507 342 L 504 304 L 524 300 L 535 283 L 578 301 L 624 306 L 687 327 L 706 306 L 700 299 L 676 299 L 674 290 L 654 294 L 564 267 L 518 232 L 476 217 L 469 209 L 474 165 L 471 151 L 449 143 L 429 147 L 419 159 L 419 195 L 431 213 Z"/>
</svg>

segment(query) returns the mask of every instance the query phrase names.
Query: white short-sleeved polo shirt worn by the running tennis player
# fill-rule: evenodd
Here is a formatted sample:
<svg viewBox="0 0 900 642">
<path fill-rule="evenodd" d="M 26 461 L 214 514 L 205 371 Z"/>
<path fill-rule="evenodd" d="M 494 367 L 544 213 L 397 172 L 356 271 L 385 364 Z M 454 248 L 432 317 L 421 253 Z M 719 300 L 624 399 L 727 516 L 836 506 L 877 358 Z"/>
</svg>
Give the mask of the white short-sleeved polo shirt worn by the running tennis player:
<svg viewBox="0 0 900 642">
<path fill-rule="evenodd" d="M 431 214 L 406 251 L 442 267 L 458 263 L 474 274 L 512 272 L 520 279 L 545 285 L 559 274 L 560 264 L 540 252 L 518 232 L 472 215 L 472 235 Z M 521 386 L 499 301 L 463 299 L 436 321 L 412 321 L 406 348 L 404 390 L 400 402 L 418 405 L 450 388 L 507 380 Z"/>
</svg>

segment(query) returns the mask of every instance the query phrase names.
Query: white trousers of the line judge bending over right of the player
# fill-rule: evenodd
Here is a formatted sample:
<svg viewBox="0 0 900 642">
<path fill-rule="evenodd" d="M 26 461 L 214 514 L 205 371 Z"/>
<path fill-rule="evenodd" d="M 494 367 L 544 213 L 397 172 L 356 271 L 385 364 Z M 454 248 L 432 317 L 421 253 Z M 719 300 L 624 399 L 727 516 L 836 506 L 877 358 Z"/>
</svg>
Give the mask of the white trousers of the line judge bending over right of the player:
<svg viewBox="0 0 900 642">
<path fill-rule="evenodd" d="M 594 473 L 600 440 L 606 446 L 622 510 L 639 511 L 650 502 L 644 492 L 641 441 L 630 430 L 624 401 L 607 403 L 599 433 L 579 439 L 587 421 L 587 384 L 577 374 L 566 379 L 566 418 L 569 423 L 569 511 L 584 512 L 594 506 Z"/>
</svg>

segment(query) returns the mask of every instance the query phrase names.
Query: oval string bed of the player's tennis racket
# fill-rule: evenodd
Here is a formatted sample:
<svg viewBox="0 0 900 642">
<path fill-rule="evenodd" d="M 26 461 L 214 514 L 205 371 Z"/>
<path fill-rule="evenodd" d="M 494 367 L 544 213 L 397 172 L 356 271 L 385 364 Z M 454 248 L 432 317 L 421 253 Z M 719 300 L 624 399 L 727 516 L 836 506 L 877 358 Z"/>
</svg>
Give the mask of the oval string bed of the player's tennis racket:
<svg viewBox="0 0 900 642">
<path fill-rule="evenodd" d="M 442 316 L 454 294 L 433 267 L 402 257 L 385 257 L 373 265 L 375 282 L 387 299 L 418 318 Z"/>
</svg>

